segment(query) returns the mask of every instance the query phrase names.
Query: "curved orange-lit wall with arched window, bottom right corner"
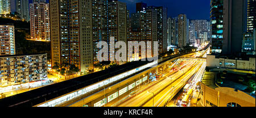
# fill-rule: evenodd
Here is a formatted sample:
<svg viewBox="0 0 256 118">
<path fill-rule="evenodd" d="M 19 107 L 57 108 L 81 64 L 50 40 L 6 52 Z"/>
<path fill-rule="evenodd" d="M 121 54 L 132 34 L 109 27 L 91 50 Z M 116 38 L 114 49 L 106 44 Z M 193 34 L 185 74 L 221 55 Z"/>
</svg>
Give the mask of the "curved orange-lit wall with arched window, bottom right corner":
<svg viewBox="0 0 256 118">
<path fill-rule="evenodd" d="M 210 107 L 210 104 L 213 104 L 212 106 L 227 107 L 227 104 L 232 102 L 239 104 L 241 107 L 255 107 L 255 98 L 243 91 L 235 91 L 233 88 L 225 87 L 212 89 L 202 82 L 200 82 L 200 86 L 200 102 L 203 106 Z"/>
</svg>

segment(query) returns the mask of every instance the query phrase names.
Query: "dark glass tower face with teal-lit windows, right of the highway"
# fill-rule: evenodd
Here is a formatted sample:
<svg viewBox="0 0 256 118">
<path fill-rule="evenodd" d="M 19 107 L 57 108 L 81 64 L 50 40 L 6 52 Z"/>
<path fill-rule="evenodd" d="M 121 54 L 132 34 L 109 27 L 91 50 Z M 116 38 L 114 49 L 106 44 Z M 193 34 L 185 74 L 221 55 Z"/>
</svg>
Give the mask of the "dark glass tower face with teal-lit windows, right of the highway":
<svg viewBox="0 0 256 118">
<path fill-rule="evenodd" d="M 223 40 L 223 0 L 210 1 L 210 35 L 212 53 L 221 53 Z"/>
</svg>

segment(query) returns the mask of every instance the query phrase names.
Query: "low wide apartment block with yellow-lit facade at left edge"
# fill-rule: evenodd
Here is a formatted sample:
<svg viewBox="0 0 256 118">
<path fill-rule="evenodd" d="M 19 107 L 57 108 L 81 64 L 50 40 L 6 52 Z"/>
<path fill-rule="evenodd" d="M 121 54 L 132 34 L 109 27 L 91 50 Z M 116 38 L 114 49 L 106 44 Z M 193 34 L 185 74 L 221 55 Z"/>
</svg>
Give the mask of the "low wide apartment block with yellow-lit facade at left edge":
<svg viewBox="0 0 256 118">
<path fill-rule="evenodd" d="M 47 78 L 47 54 L 0 56 L 0 86 Z"/>
</svg>

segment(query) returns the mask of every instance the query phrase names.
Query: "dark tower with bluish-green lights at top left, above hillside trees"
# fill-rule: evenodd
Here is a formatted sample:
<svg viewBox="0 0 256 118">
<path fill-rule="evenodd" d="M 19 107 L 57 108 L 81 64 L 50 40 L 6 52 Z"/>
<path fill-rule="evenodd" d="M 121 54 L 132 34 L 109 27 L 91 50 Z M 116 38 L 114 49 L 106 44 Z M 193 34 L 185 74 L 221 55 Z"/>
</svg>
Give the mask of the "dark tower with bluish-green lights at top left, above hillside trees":
<svg viewBox="0 0 256 118">
<path fill-rule="evenodd" d="M 20 19 L 30 21 L 30 11 L 28 0 L 16 0 L 16 12 Z"/>
</svg>

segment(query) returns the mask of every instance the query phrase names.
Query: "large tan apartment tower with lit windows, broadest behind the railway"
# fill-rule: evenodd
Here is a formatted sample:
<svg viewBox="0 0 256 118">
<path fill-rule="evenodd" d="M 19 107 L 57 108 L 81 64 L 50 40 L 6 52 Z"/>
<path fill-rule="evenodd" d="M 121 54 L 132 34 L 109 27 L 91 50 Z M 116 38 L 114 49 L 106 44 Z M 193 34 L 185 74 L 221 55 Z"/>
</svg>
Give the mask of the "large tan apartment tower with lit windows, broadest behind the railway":
<svg viewBox="0 0 256 118">
<path fill-rule="evenodd" d="M 93 29 L 100 29 L 93 28 L 93 17 L 98 17 L 94 16 L 97 12 L 92 11 L 93 2 L 96 1 L 49 1 L 52 66 L 69 63 L 75 64 L 81 72 L 93 69 L 93 35 L 98 36 L 93 34 Z M 106 10 L 106 7 L 101 10 Z M 106 27 L 107 24 L 102 25 Z"/>
</svg>

